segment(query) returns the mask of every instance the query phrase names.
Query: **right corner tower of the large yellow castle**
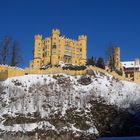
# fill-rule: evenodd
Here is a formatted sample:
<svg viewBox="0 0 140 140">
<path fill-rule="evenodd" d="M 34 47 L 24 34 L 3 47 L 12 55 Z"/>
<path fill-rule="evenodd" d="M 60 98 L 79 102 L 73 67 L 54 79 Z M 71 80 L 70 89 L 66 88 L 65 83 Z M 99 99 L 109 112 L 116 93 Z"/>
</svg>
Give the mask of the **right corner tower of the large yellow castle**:
<svg viewBox="0 0 140 140">
<path fill-rule="evenodd" d="M 86 64 L 86 58 L 87 58 L 87 50 L 86 50 L 86 46 L 87 46 L 87 36 L 85 35 L 81 35 L 78 36 L 78 42 L 79 42 L 79 49 L 80 49 L 80 60 L 79 63 L 80 65 L 85 65 Z"/>
</svg>

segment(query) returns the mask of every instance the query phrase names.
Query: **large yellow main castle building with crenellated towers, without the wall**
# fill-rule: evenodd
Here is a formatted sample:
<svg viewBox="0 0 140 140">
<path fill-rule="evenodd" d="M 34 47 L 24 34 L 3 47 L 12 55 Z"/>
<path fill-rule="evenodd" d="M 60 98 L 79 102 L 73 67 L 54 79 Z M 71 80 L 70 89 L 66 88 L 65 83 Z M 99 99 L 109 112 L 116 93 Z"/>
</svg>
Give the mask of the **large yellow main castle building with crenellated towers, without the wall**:
<svg viewBox="0 0 140 140">
<path fill-rule="evenodd" d="M 78 36 L 73 40 L 61 36 L 60 30 L 53 29 L 51 37 L 42 38 L 42 35 L 34 37 L 33 60 L 30 68 L 38 69 L 51 64 L 58 65 L 60 62 L 66 64 L 86 64 L 87 36 Z"/>
</svg>

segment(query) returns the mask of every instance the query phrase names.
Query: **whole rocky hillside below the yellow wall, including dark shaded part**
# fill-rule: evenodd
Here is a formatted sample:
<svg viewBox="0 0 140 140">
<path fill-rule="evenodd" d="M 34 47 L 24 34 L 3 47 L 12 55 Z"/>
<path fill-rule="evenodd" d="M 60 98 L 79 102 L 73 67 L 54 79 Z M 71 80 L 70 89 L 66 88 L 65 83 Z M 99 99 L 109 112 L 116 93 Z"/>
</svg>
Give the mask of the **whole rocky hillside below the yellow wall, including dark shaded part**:
<svg viewBox="0 0 140 140">
<path fill-rule="evenodd" d="M 97 72 L 10 78 L 0 86 L 0 135 L 6 140 L 123 135 L 122 116 L 138 112 L 132 106 L 139 101 L 139 91 L 139 85 Z"/>
</svg>

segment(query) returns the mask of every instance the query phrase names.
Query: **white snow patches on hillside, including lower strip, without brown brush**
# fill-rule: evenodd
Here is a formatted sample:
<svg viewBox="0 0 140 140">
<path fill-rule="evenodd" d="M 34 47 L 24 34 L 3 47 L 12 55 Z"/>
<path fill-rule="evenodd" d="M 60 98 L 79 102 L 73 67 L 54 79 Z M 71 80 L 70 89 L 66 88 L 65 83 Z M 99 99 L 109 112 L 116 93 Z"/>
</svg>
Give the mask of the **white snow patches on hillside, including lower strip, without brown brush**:
<svg viewBox="0 0 140 140">
<path fill-rule="evenodd" d="M 96 72 L 95 76 L 89 76 L 92 81 L 90 84 L 81 85 L 78 83 L 81 76 L 75 77 L 61 73 L 59 74 L 60 77 L 67 78 L 64 79 L 64 83 L 66 80 L 70 81 L 69 85 L 65 86 L 58 84 L 58 80 L 54 76 L 58 76 L 58 74 L 25 75 L 4 81 L 6 94 L 1 95 L 0 118 L 3 119 L 5 114 L 12 117 L 16 117 L 16 114 L 24 114 L 28 118 L 28 113 L 37 111 L 40 112 L 41 118 L 48 118 L 59 111 L 63 117 L 71 107 L 77 107 L 77 112 L 80 112 L 84 106 L 90 108 L 88 101 L 91 95 L 102 97 L 108 104 L 117 105 L 121 108 L 128 108 L 131 103 L 136 103 L 140 99 L 140 85 L 127 81 L 117 81 L 110 75 Z M 46 107 L 43 108 L 44 105 Z M 85 110 L 85 113 L 88 113 L 88 110 Z M 87 133 L 98 134 L 94 124 L 86 123 L 91 125 L 86 130 Z M 43 126 L 46 129 L 57 131 L 55 126 L 48 121 L 13 124 L 12 126 L 5 126 L 3 122 L 0 123 L 1 130 L 13 132 L 33 131 L 36 128 L 41 129 Z M 70 124 L 69 128 L 65 126 L 63 129 L 83 132 L 74 124 Z"/>
</svg>

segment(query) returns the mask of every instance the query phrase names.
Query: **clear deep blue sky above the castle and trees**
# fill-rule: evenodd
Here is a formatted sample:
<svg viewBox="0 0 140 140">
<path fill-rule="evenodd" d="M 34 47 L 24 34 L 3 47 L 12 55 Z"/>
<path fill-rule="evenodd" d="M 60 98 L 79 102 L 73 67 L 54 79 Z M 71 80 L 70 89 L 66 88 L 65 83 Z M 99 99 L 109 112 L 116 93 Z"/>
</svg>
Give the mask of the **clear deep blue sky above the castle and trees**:
<svg viewBox="0 0 140 140">
<path fill-rule="evenodd" d="M 105 57 L 110 42 L 121 60 L 140 57 L 140 0 L 0 0 L 0 39 L 11 35 L 20 44 L 23 67 L 32 58 L 35 34 L 88 36 L 88 57 Z"/>
</svg>

